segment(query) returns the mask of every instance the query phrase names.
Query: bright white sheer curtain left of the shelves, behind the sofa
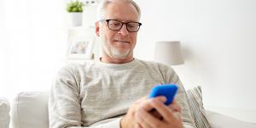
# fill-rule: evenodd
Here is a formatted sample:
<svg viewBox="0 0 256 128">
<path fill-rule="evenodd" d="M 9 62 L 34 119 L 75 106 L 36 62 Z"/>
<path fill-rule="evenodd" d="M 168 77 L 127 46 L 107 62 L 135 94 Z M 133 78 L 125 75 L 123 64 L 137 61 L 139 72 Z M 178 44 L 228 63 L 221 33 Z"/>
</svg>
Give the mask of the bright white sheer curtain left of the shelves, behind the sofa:
<svg viewBox="0 0 256 128">
<path fill-rule="evenodd" d="M 0 97 L 48 91 L 65 64 L 63 1 L 0 0 Z M 62 13 L 62 14 L 61 14 Z"/>
</svg>

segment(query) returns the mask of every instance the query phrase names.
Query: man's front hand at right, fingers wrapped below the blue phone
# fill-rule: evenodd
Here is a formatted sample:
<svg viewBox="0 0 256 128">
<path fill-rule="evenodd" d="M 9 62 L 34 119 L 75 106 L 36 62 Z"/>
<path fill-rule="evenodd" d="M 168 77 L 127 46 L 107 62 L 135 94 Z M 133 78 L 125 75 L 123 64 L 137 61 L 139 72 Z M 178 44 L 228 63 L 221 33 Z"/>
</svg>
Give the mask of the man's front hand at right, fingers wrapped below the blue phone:
<svg viewBox="0 0 256 128">
<path fill-rule="evenodd" d="M 149 114 L 147 109 L 138 109 L 135 114 L 138 124 L 134 128 L 183 128 L 181 107 L 175 99 L 168 106 L 157 98 L 152 99 L 149 103 L 163 119 Z"/>
</svg>

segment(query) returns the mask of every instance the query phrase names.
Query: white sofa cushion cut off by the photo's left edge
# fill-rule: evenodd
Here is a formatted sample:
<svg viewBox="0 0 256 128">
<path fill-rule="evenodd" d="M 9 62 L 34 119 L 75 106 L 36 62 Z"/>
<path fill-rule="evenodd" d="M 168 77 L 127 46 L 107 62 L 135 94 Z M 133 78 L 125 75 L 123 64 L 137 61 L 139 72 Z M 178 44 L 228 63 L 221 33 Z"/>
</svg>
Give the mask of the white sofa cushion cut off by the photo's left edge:
<svg viewBox="0 0 256 128">
<path fill-rule="evenodd" d="M 9 101 L 5 97 L 0 97 L 0 127 L 9 128 Z"/>
</svg>

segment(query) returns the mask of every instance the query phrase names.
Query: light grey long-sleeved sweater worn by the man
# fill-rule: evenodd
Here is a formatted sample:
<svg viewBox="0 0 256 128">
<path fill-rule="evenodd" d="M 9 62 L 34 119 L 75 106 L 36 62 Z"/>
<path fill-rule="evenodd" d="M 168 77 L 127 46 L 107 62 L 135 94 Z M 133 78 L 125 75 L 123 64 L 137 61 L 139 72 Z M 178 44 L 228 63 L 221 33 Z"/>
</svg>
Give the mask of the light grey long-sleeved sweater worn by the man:
<svg viewBox="0 0 256 128">
<path fill-rule="evenodd" d="M 132 103 L 153 86 L 175 83 L 183 125 L 195 127 L 188 97 L 171 66 L 135 58 L 126 64 L 100 59 L 67 64 L 56 75 L 49 96 L 49 127 L 119 128 Z"/>
</svg>

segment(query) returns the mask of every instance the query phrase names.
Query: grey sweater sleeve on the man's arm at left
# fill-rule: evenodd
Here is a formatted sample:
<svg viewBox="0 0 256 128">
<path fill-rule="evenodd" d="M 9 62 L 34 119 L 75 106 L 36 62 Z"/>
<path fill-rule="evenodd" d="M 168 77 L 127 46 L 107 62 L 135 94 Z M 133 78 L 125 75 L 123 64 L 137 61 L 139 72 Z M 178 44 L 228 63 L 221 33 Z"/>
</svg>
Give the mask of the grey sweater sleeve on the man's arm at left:
<svg viewBox="0 0 256 128">
<path fill-rule="evenodd" d="M 63 67 L 55 77 L 49 94 L 49 128 L 82 128 L 79 76 L 75 67 Z M 90 128 L 119 128 L 120 119 L 90 126 Z"/>
</svg>

